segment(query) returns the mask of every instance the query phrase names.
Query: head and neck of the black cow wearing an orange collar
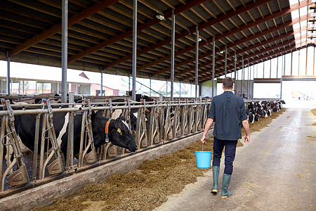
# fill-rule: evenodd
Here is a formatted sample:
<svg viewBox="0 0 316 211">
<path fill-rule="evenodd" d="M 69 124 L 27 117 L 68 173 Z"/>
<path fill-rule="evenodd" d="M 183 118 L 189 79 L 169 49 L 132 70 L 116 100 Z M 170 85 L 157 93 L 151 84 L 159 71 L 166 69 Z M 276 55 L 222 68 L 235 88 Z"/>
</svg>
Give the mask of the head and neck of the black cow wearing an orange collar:
<svg viewBox="0 0 316 211">
<path fill-rule="evenodd" d="M 103 117 L 99 113 L 93 113 L 91 116 L 93 138 L 96 148 L 105 143 L 105 125 L 107 120 L 109 120 L 109 118 Z M 113 145 L 127 148 L 131 152 L 137 151 L 137 143 L 131 134 L 129 124 L 126 123 L 124 117 L 118 117 L 116 120 L 110 121 L 108 134 L 109 141 Z"/>
</svg>

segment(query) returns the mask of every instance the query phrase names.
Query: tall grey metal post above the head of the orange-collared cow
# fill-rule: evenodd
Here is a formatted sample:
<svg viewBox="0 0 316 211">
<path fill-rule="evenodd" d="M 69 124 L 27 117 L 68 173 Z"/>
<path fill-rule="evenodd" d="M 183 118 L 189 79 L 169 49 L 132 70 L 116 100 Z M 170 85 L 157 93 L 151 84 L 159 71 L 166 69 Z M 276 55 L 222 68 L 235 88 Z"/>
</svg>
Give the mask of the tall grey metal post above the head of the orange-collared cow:
<svg viewBox="0 0 316 211">
<path fill-rule="evenodd" d="M 136 101 L 136 60 L 137 58 L 137 0 L 133 0 L 133 89 L 132 100 Z"/>
</svg>

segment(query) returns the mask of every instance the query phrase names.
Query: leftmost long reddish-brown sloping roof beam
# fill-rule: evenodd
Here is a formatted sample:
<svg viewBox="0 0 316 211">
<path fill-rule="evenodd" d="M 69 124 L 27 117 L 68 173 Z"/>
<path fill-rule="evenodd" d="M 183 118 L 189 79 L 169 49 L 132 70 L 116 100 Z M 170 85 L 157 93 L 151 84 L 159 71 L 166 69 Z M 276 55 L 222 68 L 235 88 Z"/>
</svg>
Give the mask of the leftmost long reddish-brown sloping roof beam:
<svg viewBox="0 0 316 211">
<path fill-rule="evenodd" d="M 79 21 L 83 20 L 84 18 L 90 15 L 93 15 L 94 13 L 97 13 L 100 10 L 103 10 L 107 6 L 110 6 L 117 1 L 119 0 L 103 0 L 100 3 L 91 6 L 91 8 L 84 9 L 84 11 L 82 11 L 81 13 L 77 15 L 72 15 L 72 17 L 69 18 L 68 20 L 68 27 L 74 25 L 75 23 L 78 23 Z M 61 30 L 62 30 L 62 23 L 60 22 L 57 25 L 53 25 L 53 27 L 51 27 L 50 29 L 44 30 L 43 32 L 41 32 L 41 34 L 34 35 L 32 39 L 25 40 L 23 44 L 15 46 L 15 48 L 11 49 L 8 52 L 8 54 L 10 57 L 15 56 L 21 51 L 28 49 L 30 46 L 33 46 L 34 44 L 38 44 L 40 41 L 43 41 L 44 39 L 51 37 L 53 34 L 61 32 Z"/>
</svg>

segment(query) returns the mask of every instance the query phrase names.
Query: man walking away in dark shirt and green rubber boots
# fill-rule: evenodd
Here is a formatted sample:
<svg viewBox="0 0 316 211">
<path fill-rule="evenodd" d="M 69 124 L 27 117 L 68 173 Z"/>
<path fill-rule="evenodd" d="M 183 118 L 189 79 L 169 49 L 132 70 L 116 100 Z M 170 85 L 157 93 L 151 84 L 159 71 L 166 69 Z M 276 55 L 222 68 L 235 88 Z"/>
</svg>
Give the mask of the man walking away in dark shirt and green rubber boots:
<svg viewBox="0 0 316 211">
<path fill-rule="evenodd" d="M 244 142 L 248 143 L 250 141 L 249 123 L 244 100 L 232 93 L 233 88 L 234 79 L 225 77 L 223 79 L 224 93 L 213 97 L 204 133 L 201 138 L 202 143 L 204 143 L 206 141 L 206 134 L 214 121 L 213 188 L 211 189 L 211 193 L 218 192 L 220 158 L 225 146 L 225 168 L 220 194 L 221 198 L 232 196 L 232 191 L 228 191 L 228 186 L 232 177 L 232 162 L 235 160 L 237 141 L 242 138 L 242 127 L 244 127 L 244 131 L 246 132 Z"/>
</svg>

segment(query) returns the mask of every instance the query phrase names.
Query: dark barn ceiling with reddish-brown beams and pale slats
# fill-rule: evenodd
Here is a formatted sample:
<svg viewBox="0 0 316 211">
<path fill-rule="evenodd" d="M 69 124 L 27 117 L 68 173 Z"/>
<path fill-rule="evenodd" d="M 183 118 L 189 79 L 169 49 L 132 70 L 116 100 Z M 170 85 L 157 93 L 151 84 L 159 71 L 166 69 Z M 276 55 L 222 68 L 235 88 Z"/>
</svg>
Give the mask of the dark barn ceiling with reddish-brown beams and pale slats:
<svg viewBox="0 0 316 211">
<path fill-rule="evenodd" d="M 309 25 L 294 30 L 312 1 L 289 0 L 138 0 L 137 77 L 166 80 L 171 71 L 171 14 L 176 15 L 175 81 L 195 80 L 195 33 L 199 30 L 199 82 L 212 77 L 213 39 L 216 71 L 237 70 L 314 46 Z M 0 1 L 0 59 L 61 66 L 62 1 Z M 307 8 L 305 15 L 291 12 Z M 133 0 L 68 0 L 68 68 L 131 74 Z M 164 15 L 159 20 L 157 15 Z M 316 20 L 315 20 L 316 21 Z M 312 22 L 313 23 L 313 22 Z M 305 32 L 305 33 L 302 33 Z M 312 31 L 313 32 L 313 31 Z M 294 36 L 294 34 L 301 36 Z M 303 35 L 302 35 L 303 34 Z M 305 34 L 305 35 L 304 35 Z"/>
</svg>

